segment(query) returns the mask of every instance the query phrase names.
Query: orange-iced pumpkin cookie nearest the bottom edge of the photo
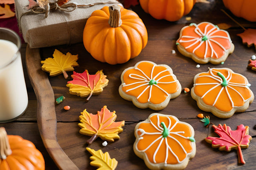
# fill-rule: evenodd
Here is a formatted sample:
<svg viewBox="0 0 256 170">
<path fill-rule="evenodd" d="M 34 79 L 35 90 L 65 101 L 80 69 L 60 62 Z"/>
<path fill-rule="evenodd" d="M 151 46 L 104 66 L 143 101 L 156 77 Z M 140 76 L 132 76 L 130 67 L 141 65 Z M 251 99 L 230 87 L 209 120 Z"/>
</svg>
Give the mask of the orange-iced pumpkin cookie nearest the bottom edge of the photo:
<svg viewBox="0 0 256 170">
<path fill-rule="evenodd" d="M 134 133 L 134 153 L 149 169 L 183 170 L 195 156 L 194 129 L 175 116 L 153 113 Z"/>
</svg>

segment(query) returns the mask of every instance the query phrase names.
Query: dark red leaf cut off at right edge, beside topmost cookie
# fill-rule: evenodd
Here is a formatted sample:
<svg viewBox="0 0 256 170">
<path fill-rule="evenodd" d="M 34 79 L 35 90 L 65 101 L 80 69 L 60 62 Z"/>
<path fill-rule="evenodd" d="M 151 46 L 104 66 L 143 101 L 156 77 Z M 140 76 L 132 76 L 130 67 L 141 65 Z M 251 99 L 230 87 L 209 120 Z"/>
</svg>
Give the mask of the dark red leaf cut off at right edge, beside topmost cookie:
<svg viewBox="0 0 256 170">
<path fill-rule="evenodd" d="M 237 34 L 243 40 L 244 44 L 247 44 L 248 47 L 256 45 L 256 29 L 247 29 L 241 34 Z M 256 46 L 255 46 L 256 48 Z"/>
</svg>

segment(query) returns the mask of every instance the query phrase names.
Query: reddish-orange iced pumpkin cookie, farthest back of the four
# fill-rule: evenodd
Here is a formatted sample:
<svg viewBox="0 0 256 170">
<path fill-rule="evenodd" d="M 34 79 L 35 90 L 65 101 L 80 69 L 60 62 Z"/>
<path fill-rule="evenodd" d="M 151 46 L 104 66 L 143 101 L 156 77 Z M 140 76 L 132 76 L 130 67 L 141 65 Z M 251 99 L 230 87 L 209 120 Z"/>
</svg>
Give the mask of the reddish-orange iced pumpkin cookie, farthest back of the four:
<svg viewBox="0 0 256 170">
<path fill-rule="evenodd" d="M 220 64 L 234 51 L 229 33 L 207 22 L 183 27 L 176 45 L 181 54 L 199 64 Z"/>
</svg>

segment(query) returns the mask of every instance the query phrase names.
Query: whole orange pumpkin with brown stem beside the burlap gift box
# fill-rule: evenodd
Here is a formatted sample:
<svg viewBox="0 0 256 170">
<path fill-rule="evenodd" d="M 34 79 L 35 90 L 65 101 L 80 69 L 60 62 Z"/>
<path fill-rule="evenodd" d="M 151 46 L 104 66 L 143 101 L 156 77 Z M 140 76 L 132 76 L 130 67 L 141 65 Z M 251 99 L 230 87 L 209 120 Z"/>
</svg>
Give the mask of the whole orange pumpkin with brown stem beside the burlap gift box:
<svg viewBox="0 0 256 170">
<path fill-rule="evenodd" d="M 96 10 L 84 27 L 83 42 L 93 58 L 121 64 L 138 56 L 148 42 L 143 21 L 118 5 Z"/>
</svg>

